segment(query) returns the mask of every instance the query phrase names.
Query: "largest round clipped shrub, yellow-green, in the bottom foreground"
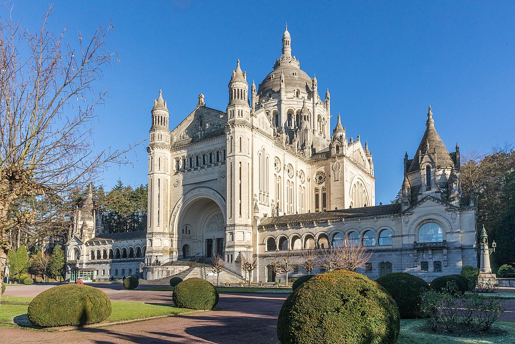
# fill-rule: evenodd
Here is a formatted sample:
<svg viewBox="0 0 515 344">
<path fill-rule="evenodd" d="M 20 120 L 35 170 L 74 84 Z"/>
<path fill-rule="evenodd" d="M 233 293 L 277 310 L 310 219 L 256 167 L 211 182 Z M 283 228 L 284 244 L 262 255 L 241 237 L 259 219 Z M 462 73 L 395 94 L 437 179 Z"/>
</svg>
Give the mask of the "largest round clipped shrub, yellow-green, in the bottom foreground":
<svg viewBox="0 0 515 344">
<path fill-rule="evenodd" d="M 340 270 L 317 274 L 290 294 L 277 335 L 282 344 L 393 344 L 399 327 L 395 301 L 379 284 Z"/>
</svg>

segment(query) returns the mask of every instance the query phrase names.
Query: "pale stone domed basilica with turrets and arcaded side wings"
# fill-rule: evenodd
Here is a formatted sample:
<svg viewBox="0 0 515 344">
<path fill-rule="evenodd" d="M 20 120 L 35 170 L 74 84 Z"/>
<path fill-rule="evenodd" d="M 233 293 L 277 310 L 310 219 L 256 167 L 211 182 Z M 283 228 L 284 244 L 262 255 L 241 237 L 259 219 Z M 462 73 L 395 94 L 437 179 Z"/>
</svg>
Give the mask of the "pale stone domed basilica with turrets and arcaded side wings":
<svg viewBox="0 0 515 344">
<path fill-rule="evenodd" d="M 330 130 L 330 93 L 291 55 L 282 55 L 250 102 L 239 60 L 225 111 L 195 109 L 173 130 L 160 92 L 151 110 L 146 232 L 102 233 L 91 192 L 77 209 L 67 245 L 68 276 L 87 279 L 175 273 L 181 260 L 221 255 L 243 275 L 243 255 L 258 258 L 253 281 L 274 282 L 281 254 L 362 243 L 372 279 L 409 272 L 426 281 L 476 265 L 476 207 L 460 191 L 459 147 L 450 153 L 431 107 L 418 149 L 404 156 L 401 202 L 375 205 L 372 153 L 347 137 L 338 114 Z M 316 271 L 315 271 L 316 272 Z M 305 272 L 299 269 L 291 276 Z M 284 279 L 284 277 L 283 277 Z"/>
</svg>

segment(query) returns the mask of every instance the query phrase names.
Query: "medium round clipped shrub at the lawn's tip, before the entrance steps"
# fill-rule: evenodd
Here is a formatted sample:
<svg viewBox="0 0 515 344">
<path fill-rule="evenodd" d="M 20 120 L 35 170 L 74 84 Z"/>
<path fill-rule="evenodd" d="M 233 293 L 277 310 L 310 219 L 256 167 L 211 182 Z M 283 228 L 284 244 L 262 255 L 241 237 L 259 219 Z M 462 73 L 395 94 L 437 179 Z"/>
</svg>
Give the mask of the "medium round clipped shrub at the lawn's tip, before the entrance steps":
<svg viewBox="0 0 515 344">
<path fill-rule="evenodd" d="M 180 308 L 212 309 L 218 303 L 218 291 L 208 281 L 187 279 L 175 286 L 173 300 Z"/>
</svg>

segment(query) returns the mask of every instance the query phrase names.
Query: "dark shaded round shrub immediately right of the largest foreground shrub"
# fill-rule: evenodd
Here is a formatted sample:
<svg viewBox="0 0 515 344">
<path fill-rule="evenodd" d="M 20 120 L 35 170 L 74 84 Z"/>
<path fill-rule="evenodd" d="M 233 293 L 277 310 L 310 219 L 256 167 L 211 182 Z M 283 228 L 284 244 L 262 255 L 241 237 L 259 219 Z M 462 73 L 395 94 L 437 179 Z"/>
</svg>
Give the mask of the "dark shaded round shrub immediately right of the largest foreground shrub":
<svg viewBox="0 0 515 344">
<path fill-rule="evenodd" d="M 401 319 L 417 318 L 422 294 L 431 289 L 420 277 L 405 272 L 389 273 L 375 282 L 385 288 L 395 300 Z"/>
</svg>

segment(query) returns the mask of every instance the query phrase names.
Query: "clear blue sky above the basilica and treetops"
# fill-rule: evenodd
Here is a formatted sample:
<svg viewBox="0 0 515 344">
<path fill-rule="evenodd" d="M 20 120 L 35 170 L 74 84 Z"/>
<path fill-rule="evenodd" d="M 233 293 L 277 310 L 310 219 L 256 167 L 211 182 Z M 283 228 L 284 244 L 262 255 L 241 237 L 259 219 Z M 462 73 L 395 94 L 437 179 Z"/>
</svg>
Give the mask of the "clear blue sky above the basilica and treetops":
<svg viewBox="0 0 515 344">
<path fill-rule="evenodd" d="M 13 17 L 38 27 L 46 2 L 12 1 Z M 0 15 L 8 13 L 4 6 Z M 65 39 L 112 21 L 108 48 L 117 52 L 97 90 L 109 98 L 96 111 L 95 149 L 125 149 L 148 137 L 159 89 L 177 125 L 205 95 L 225 110 L 236 59 L 256 85 L 281 55 L 288 22 L 293 55 L 319 89 L 331 92 L 331 125 L 341 113 L 347 135 L 368 140 L 376 203 L 388 203 L 413 157 L 427 106 L 450 151 L 514 143 L 514 2 L 99 2 L 56 1 L 49 27 Z M 111 167 L 104 183 L 146 184 L 146 144 Z"/>
</svg>

